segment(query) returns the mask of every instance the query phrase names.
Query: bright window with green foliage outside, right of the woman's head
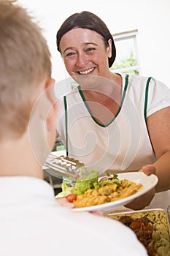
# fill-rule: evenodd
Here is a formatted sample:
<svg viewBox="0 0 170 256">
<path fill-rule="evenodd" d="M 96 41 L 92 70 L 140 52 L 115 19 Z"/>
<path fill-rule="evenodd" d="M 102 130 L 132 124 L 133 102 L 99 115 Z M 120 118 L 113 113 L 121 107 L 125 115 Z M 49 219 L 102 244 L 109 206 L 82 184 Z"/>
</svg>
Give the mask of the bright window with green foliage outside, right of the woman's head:
<svg viewBox="0 0 170 256">
<path fill-rule="evenodd" d="M 139 75 L 139 60 L 136 45 L 137 30 L 113 34 L 116 59 L 110 70 L 124 74 Z"/>
</svg>

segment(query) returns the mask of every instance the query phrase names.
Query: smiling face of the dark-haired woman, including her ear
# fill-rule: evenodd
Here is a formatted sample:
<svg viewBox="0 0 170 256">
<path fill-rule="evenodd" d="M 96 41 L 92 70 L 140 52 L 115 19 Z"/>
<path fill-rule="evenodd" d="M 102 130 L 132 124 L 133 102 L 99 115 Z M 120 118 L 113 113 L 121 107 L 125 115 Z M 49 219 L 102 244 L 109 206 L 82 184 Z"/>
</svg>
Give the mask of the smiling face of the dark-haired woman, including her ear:
<svg viewBox="0 0 170 256">
<path fill-rule="evenodd" d="M 89 75 L 109 78 L 108 58 L 112 56 L 112 42 L 106 48 L 100 34 L 89 29 L 72 29 L 60 42 L 61 55 L 67 72 L 74 80 L 89 80 Z"/>
</svg>

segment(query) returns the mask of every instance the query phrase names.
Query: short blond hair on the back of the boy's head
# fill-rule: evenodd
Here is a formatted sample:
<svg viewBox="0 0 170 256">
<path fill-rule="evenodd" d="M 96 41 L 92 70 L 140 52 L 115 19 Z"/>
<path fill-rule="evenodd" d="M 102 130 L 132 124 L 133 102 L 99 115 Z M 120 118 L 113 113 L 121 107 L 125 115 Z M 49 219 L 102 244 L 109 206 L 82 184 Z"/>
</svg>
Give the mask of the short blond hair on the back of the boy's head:
<svg viewBox="0 0 170 256">
<path fill-rule="evenodd" d="M 26 131 L 37 87 L 50 75 L 50 51 L 41 29 L 16 1 L 1 0 L 0 140 Z"/>
</svg>

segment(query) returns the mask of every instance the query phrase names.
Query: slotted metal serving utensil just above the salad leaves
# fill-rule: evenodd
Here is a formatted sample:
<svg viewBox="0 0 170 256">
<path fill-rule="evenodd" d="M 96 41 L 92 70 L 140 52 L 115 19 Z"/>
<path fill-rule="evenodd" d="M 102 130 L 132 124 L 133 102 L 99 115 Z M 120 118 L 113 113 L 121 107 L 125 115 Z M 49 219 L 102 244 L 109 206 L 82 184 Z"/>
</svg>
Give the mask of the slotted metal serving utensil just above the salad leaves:
<svg viewBox="0 0 170 256">
<path fill-rule="evenodd" d="M 49 154 L 45 164 L 47 173 L 57 178 L 69 178 L 72 181 L 80 180 L 85 174 L 88 173 L 85 165 L 77 159 L 70 157 L 56 157 Z"/>
</svg>

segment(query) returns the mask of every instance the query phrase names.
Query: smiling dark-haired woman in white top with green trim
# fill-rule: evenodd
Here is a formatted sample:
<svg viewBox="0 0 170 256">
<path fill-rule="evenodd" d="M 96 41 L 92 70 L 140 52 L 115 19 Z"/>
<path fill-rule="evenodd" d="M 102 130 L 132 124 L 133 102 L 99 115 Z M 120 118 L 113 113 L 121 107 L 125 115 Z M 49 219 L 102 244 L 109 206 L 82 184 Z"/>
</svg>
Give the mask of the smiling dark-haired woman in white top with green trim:
<svg viewBox="0 0 170 256">
<path fill-rule="evenodd" d="M 58 134 L 69 157 L 100 173 L 154 173 L 157 186 L 128 207 L 167 207 L 169 88 L 155 78 L 111 71 L 116 56 L 112 34 L 92 12 L 74 13 L 63 22 L 57 48 L 78 84 L 58 102 Z"/>
</svg>

